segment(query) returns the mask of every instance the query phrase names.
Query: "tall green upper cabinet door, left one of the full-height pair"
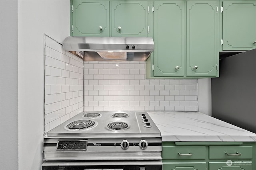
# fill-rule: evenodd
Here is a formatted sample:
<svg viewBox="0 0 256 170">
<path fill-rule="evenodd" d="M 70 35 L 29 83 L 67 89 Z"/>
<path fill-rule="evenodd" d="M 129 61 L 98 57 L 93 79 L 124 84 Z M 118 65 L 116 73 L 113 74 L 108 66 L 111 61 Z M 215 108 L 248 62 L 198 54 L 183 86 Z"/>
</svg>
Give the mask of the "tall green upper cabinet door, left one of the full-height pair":
<svg viewBox="0 0 256 170">
<path fill-rule="evenodd" d="M 154 76 L 184 76 L 184 1 L 154 2 Z"/>
</svg>

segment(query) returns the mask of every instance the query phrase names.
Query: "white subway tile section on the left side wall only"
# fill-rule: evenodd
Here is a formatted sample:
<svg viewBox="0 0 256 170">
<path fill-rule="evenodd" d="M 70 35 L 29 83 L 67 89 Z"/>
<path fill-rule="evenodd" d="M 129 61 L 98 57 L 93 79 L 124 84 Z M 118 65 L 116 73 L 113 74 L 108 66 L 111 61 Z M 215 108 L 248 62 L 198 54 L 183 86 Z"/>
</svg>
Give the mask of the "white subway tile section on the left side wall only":
<svg viewBox="0 0 256 170">
<path fill-rule="evenodd" d="M 84 69 L 82 59 L 65 51 L 62 45 L 49 37 L 46 38 L 45 55 L 44 114 L 47 132 L 83 111 Z"/>
</svg>

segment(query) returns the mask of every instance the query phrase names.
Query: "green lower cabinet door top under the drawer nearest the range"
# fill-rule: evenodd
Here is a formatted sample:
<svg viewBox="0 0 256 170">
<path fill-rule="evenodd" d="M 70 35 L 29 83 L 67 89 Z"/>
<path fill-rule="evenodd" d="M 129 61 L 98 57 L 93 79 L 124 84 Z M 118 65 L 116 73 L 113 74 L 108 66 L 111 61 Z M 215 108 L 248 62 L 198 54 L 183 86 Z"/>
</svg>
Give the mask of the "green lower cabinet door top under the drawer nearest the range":
<svg viewBox="0 0 256 170">
<path fill-rule="evenodd" d="M 163 170 L 206 170 L 206 162 L 163 162 Z"/>
</svg>

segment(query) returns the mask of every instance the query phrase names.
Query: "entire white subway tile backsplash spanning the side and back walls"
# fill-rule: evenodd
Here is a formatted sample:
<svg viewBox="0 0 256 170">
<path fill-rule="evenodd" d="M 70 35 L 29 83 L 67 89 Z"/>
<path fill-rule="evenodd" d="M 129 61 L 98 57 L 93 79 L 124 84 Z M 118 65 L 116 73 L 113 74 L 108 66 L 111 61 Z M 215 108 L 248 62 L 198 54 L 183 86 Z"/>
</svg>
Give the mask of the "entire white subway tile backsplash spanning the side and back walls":
<svg viewBox="0 0 256 170">
<path fill-rule="evenodd" d="M 196 79 L 145 79 L 145 62 L 83 62 L 63 51 L 60 45 L 50 46 L 46 45 L 45 53 L 48 56 L 45 113 L 52 116 L 47 117 L 46 131 L 83 108 L 87 111 L 198 110 Z"/>
</svg>

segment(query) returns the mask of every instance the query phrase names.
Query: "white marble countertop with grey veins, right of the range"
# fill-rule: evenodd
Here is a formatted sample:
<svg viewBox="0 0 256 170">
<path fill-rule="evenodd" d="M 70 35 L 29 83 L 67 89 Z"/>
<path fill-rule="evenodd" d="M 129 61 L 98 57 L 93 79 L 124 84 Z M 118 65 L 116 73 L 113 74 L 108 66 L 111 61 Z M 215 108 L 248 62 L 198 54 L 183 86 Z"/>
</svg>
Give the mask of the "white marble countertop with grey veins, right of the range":
<svg viewBox="0 0 256 170">
<path fill-rule="evenodd" d="M 199 112 L 148 111 L 162 141 L 255 142 L 256 134 Z"/>
</svg>

